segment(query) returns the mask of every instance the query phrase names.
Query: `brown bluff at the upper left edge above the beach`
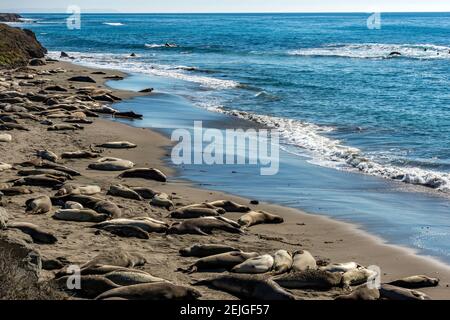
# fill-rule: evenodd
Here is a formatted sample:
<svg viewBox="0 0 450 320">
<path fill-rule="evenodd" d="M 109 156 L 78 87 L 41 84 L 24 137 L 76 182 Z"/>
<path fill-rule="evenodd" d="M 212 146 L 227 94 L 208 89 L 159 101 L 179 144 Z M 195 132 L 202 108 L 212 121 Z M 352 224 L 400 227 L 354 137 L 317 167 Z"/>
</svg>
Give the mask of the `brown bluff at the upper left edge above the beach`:
<svg viewBox="0 0 450 320">
<path fill-rule="evenodd" d="M 0 24 L 0 68 L 26 66 L 30 59 L 43 58 L 46 53 L 32 31 Z"/>
</svg>

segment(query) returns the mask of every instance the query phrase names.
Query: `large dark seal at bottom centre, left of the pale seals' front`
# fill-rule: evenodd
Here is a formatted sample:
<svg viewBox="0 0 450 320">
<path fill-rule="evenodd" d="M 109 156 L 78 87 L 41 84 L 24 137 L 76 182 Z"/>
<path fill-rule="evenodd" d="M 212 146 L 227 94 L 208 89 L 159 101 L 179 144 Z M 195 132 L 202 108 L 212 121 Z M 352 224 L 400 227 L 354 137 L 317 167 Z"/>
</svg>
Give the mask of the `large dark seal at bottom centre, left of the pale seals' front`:
<svg viewBox="0 0 450 320">
<path fill-rule="evenodd" d="M 252 300 L 295 300 L 295 297 L 273 280 L 262 276 L 223 275 L 213 279 L 200 280 L 194 286 L 208 286 L 228 292 L 241 299 Z"/>
</svg>

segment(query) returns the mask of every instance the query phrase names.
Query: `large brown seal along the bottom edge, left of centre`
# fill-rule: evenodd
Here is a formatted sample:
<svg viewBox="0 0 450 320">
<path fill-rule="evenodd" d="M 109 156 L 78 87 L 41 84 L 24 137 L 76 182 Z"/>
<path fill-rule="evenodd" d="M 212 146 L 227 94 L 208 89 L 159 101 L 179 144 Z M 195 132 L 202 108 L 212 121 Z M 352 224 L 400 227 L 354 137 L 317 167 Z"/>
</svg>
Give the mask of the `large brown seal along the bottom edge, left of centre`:
<svg viewBox="0 0 450 320">
<path fill-rule="evenodd" d="M 129 300 L 196 300 L 201 297 L 197 290 L 172 284 L 170 282 L 155 282 L 135 284 L 112 289 L 102 293 L 96 299 L 125 298 Z"/>
</svg>

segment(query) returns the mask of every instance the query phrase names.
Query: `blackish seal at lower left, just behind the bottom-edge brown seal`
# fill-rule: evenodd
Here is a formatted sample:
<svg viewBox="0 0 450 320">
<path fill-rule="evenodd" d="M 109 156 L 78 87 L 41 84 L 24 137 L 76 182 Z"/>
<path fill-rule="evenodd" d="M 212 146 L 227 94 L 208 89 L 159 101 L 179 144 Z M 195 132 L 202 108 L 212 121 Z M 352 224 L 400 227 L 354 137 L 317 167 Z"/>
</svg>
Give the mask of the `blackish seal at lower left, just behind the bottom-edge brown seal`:
<svg viewBox="0 0 450 320">
<path fill-rule="evenodd" d="M 73 292 L 77 296 L 88 299 L 93 299 L 106 291 L 121 287 L 103 276 L 82 275 L 80 276 L 80 288 L 68 289 L 67 284 L 70 283 L 70 279 L 70 276 L 64 276 L 56 279 L 55 282 L 59 289 Z"/>
</svg>

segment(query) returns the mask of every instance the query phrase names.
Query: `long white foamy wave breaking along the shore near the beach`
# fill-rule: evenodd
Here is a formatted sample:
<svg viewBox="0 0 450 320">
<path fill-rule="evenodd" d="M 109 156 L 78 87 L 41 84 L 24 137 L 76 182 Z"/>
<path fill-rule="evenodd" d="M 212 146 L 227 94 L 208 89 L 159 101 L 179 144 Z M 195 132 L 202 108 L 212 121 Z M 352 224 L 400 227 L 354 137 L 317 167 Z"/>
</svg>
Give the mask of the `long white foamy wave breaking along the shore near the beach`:
<svg viewBox="0 0 450 320">
<path fill-rule="evenodd" d="M 221 106 L 201 103 L 199 105 L 209 111 L 236 116 L 277 129 L 284 142 L 306 150 L 306 154 L 311 157 L 311 163 L 336 169 L 359 171 L 450 192 L 449 173 L 380 164 L 373 156 L 364 155 L 357 148 L 343 145 L 341 141 L 327 137 L 326 133 L 333 131 L 331 127 L 239 110 L 228 110 Z"/>
</svg>

